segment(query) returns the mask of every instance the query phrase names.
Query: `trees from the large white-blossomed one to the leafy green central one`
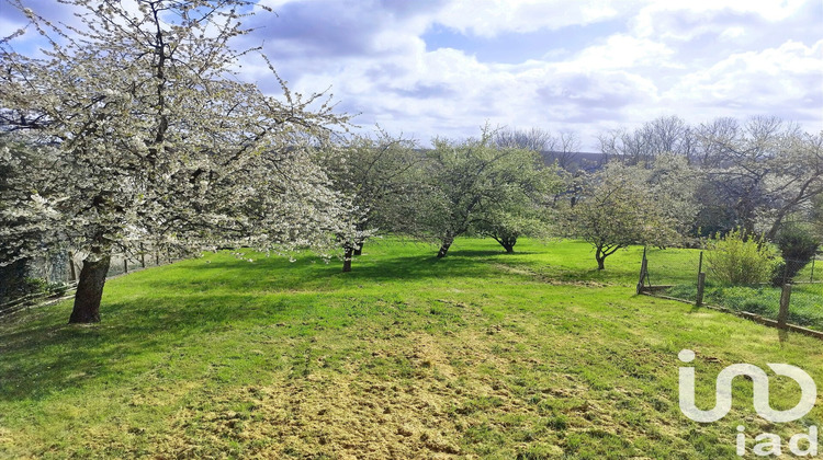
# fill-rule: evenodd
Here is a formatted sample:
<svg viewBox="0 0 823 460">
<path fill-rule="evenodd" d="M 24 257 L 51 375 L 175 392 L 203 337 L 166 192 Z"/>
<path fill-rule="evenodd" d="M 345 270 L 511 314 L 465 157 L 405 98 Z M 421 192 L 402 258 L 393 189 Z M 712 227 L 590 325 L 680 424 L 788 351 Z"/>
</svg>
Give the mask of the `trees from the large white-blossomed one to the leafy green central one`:
<svg viewBox="0 0 823 460">
<path fill-rule="evenodd" d="M 556 188 L 534 149 L 477 139 L 340 137 L 323 94 L 281 97 L 234 72 L 244 0 L 71 0 L 82 25 L 12 0 L 44 45 L 0 39 L 0 263 L 83 255 L 70 322 L 100 320 L 112 253 L 247 246 L 343 251 L 377 230 L 441 243 L 475 231 L 511 251 Z M 260 59 L 268 64 L 264 56 Z"/>
</svg>

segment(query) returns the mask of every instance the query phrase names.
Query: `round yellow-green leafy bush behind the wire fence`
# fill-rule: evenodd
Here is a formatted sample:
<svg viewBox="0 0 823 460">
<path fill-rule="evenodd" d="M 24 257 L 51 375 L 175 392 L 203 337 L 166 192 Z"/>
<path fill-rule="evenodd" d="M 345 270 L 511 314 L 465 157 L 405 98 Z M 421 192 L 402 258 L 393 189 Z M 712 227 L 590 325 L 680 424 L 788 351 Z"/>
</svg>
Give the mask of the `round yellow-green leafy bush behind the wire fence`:
<svg viewBox="0 0 823 460">
<path fill-rule="evenodd" d="M 766 281 L 779 261 L 773 246 L 763 239 L 746 235 L 741 229 L 725 237 L 717 234 L 707 246 L 706 258 L 712 277 L 733 286 Z"/>
</svg>

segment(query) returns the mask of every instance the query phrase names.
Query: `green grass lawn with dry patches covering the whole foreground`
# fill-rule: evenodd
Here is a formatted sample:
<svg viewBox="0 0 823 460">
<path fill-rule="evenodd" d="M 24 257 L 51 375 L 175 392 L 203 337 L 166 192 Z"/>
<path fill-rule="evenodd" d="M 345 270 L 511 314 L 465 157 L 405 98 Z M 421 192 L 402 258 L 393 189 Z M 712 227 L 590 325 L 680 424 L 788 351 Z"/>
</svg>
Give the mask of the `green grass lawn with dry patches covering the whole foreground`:
<svg viewBox="0 0 823 460">
<path fill-rule="evenodd" d="M 678 409 L 677 353 L 698 402 L 734 363 L 802 367 L 823 343 L 635 297 L 641 250 L 598 272 L 589 245 L 460 239 L 449 255 L 370 241 L 354 272 L 308 255 L 208 254 L 111 280 L 100 324 L 70 302 L 0 322 L 0 458 L 722 459 L 773 425 L 736 379 L 713 424 Z M 667 250 L 672 278 L 694 251 Z M 683 267 L 683 274 L 679 268 Z M 739 380 L 739 381 L 737 381 Z M 799 400 L 774 378 L 771 404 Z"/>
</svg>

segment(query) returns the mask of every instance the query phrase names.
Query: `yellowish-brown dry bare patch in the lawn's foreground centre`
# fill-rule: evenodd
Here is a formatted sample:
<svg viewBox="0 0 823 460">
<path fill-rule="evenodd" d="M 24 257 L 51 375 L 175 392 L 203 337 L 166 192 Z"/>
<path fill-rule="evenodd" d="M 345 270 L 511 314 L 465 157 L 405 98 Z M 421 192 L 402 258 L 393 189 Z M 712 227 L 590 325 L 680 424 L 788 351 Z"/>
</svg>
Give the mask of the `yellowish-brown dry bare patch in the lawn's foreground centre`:
<svg viewBox="0 0 823 460">
<path fill-rule="evenodd" d="M 476 373 L 481 364 L 504 373 L 510 365 L 489 350 L 492 340 L 481 331 L 460 335 L 459 341 L 441 341 L 415 333 L 403 344 L 372 344 L 380 356 L 375 359 L 407 360 L 412 377 L 374 375 L 358 363 L 348 365 L 348 375 L 319 369 L 300 379 L 283 376 L 271 386 L 216 394 L 213 410 L 179 411 L 173 433 L 153 442 L 158 449 L 154 455 L 212 457 L 218 446 L 239 444 L 244 458 L 477 458 L 460 440 L 463 430 L 480 423 L 480 414 L 461 407 L 484 398 L 499 401 L 485 412 L 525 407 L 493 377 Z"/>
</svg>

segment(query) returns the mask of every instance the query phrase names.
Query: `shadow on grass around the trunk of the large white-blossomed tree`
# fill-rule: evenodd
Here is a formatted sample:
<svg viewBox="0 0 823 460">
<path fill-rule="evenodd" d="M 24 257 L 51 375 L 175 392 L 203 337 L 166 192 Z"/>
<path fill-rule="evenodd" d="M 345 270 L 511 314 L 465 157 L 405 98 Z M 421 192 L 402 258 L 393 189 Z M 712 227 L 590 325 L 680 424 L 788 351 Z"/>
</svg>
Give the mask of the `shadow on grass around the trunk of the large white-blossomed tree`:
<svg viewBox="0 0 823 460">
<path fill-rule="evenodd" d="M 145 372 L 128 369 L 129 364 L 184 346 L 193 336 L 255 317 L 269 318 L 292 306 L 289 298 L 261 301 L 248 294 L 157 296 L 150 302 L 104 300 L 102 322 L 88 325 L 66 324 L 68 309 L 54 308 L 38 322 L 60 324 L 0 333 L 0 401 L 41 399 L 93 380 L 108 383 L 129 372 Z"/>
</svg>

